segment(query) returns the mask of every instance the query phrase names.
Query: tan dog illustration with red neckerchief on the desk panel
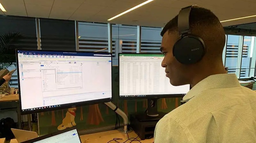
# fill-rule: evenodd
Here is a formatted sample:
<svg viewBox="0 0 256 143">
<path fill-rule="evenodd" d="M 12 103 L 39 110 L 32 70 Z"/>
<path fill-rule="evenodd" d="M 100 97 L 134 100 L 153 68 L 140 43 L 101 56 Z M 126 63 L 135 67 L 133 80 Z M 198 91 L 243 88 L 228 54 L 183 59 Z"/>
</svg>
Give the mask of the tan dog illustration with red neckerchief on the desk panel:
<svg viewBox="0 0 256 143">
<path fill-rule="evenodd" d="M 62 120 L 62 124 L 58 126 L 58 130 L 64 130 L 66 128 L 71 128 L 76 125 L 75 123 L 75 111 L 76 108 L 69 108 L 65 118 Z"/>
</svg>

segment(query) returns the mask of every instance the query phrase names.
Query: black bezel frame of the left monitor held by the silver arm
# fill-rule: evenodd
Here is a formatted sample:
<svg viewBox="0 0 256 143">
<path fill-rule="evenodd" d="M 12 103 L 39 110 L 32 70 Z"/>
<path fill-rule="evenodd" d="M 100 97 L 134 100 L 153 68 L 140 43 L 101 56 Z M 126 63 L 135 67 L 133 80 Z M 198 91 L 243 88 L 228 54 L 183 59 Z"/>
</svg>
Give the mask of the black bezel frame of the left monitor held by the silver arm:
<svg viewBox="0 0 256 143">
<path fill-rule="evenodd" d="M 20 107 L 21 115 L 47 112 L 47 111 L 53 111 L 53 110 L 61 110 L 61 109 L 74 108 L 74 107 L 80 107 L 80 106 L 85 106 L 85 105 L 100 104 L 100 103 L 113 101 L 113 76 L 112 76 L 113 55 L 112 55 L 112 53 L 109 53 L 109 54 L 111 54 L 111 92 L 112 92 L 111 93 L 111 98 L 104 98 L 104 99 L 83 101 L 83 102 L 75 102 L 75 103 L 70 103 L 70 104 L 61 104 L 60 107 L 44 108 L 44 109 L 38 109 L 38 110 L 32 110 L 32 111 L 31 110 L 22 111 L 18 51 L 46 51 L 46 52 L 47 51 L 53 51 L 53 52 L 76 52 L 76 53 L 94 53 L 94 52 L 87 52 L 87 51 L 54 51 L 54 50 L 38 50 L 38 49 L 16 49 L 16 63 L 17 63 L 17 72 L 18 72 L 17 73 L 18 74 L 18 91 L 19 91 L 19 102 L 20 102 L 19 107 Z M 106 53 L 97 52 L 96 54 L 106 54 Z"/>
</svg>

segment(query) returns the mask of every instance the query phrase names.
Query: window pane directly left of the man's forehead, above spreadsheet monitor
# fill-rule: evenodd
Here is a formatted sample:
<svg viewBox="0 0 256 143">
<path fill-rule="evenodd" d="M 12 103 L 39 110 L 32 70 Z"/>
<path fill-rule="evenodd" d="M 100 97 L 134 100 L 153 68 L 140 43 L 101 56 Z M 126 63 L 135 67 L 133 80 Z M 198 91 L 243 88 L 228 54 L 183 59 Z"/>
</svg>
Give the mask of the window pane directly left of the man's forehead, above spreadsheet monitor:
<svg viewBox="0 0 256 143">
<path fill-rule="evenodd" d="M 141 27 L 141 53 L 161 53 L 160 27 Z"/>
</svg>

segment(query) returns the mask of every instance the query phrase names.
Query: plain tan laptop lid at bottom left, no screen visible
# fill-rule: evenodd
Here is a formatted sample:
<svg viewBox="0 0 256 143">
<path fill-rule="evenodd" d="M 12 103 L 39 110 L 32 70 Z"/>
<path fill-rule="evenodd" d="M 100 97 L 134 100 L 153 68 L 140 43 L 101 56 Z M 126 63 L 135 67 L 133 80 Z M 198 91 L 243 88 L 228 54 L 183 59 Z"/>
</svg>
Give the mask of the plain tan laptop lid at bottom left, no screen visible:
<svg viewBox="0 0 256 143">
<path fill-rule="evenodd" d="M 13 129 L 13 128 L 11 128 L 11 130 L 16 140 L 18 141 L 18 143 L 38 137 L 37 132 L 31 132 L 31 131 L 19 130 L 19 129 Z"/>
</svg>

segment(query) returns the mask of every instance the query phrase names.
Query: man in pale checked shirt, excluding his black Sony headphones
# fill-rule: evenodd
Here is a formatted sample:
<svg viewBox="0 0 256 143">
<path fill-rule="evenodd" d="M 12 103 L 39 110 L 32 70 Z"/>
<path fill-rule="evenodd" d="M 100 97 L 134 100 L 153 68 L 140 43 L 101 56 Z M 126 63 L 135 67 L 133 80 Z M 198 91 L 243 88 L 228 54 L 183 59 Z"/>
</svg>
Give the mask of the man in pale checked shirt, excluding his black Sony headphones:
<svg viewBox="0 0 256 143">
<path fill-rule="evenodd" d="M 179 38 L 178 16 L 161 32 L 166 76 L 172 85 L 190 84 L 192 89 L 183 97 L 185 104 L 158 122 L 155 143 L 256 142 L 256 92 L 240 86 L 235 74 L 226 74 L 219 19 L 208 9 L 192 7 L 189 25 L 206 47 L 193 64 L 180 63 L 172 53 Z"/>
</svg>

